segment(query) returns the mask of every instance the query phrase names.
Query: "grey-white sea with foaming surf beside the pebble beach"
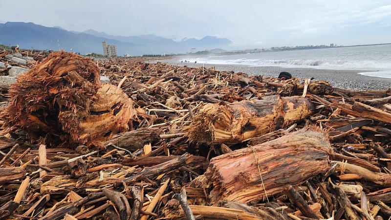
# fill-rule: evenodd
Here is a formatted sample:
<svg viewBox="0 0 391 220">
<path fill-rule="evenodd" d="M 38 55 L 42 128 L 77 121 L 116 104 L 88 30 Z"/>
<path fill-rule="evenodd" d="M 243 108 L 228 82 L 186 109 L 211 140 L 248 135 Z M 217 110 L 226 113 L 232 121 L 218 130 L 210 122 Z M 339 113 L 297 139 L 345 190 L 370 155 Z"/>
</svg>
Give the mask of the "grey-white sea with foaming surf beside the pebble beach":
<svg viewBox="0 0 391 220">
<path fill-rule="evenodd" d="M 280 66 L 288 68 L 318 68 L 368 70 L 359 74 L 391 78 L 391 44 L 334 47 L 325 49 L 290 50 L 251 54 L 187 57 L 181 60 L 199 64 Z M 181 61 L 179 60 L 179 62 Z"/>
</svg>

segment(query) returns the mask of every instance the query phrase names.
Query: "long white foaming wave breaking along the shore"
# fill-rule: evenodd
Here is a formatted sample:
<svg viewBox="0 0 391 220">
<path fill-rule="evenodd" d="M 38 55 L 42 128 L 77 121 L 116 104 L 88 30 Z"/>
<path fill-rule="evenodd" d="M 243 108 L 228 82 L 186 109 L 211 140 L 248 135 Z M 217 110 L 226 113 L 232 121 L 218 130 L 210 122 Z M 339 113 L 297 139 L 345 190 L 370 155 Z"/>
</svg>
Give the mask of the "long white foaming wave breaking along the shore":
<svg viewBox="0 0 391 220">
<path fill-rule="evenodd" d="M 368 60 L 264 60 L 264 59 L 235 59 L 217 60 L 208 58 L 196 58 L 190 60 L 201 64 L 220 65 L 247 65 L 247 66 L 281 66 L 281 67 L 304 67 L 326 68 L 345 70 L 390 70 L 391 62 L 376 62 Z"/>
</svg>

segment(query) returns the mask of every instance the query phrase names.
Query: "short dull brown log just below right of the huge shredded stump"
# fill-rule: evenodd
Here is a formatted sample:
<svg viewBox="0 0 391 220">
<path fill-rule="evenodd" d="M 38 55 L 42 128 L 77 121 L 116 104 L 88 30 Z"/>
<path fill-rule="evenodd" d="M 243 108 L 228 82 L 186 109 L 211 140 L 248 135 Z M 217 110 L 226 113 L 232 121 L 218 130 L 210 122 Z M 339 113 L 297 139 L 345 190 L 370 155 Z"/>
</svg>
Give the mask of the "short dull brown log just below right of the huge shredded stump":
<svg viewBox="0 0 391 220">
<path fill-rule="evenodd" d="M 106 145 L 113 143 L 117 147 L 135 151 L 143 148 L 146 144 L 151 143 L 153 145 L 157 143 L 160 140 L 159 135 L 162 133 L 163 130 L 160 128 L 141 128 L 116 134 L 106 141 Z"/>
</svg>

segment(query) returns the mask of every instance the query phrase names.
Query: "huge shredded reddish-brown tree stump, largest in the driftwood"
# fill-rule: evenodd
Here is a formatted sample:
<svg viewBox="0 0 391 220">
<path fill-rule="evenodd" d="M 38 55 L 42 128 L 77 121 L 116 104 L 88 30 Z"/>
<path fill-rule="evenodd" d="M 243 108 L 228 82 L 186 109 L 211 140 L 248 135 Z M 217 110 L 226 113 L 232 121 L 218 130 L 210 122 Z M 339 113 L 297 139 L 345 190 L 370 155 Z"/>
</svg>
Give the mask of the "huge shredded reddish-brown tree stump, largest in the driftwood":
<svg viewBox="0 0 391 220">
<path fill-rule="evenodd" d="M 9 90 L 3 118 L 11 129 L 48 144 L 86 144 L 126 132 L 134 116 L 120 88 L 100 83 L 100 70 L 89 58 L 64 51 L 50 54 L 18 77 Z"/>
</svg>

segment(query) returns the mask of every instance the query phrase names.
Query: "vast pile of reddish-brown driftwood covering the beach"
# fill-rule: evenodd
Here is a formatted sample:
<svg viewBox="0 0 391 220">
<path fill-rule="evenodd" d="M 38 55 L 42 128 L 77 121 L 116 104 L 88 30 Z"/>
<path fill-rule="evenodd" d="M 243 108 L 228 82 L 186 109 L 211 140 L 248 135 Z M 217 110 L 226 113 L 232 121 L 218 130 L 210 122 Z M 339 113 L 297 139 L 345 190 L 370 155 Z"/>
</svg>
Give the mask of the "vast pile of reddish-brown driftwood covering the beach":
<svg viewBox="0 0 391 220">
<path fill-rule="evenodd" d="M 391 218 L 390 89 L 24 53 L 1 93 L 0 219 Z"/>
</svg>

